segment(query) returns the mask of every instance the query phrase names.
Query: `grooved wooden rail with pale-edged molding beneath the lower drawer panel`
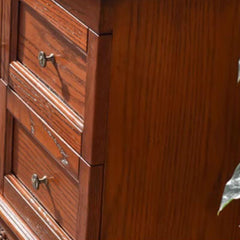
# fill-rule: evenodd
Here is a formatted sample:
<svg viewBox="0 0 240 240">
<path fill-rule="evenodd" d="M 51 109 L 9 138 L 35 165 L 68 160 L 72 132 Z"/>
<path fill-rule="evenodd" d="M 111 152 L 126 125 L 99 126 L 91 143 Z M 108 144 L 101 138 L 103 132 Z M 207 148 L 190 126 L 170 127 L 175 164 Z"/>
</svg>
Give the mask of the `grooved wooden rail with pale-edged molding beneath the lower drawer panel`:
<svg viewBox="0 0 240 240">
<path fill-rule="evenodd" d="M 4 203 L 1 205 L 7 205 L 6 218 L 17 222 L 14 233 L 18 240 L 72 240 L 13 175 L 4 177 Z"/>
</svg>

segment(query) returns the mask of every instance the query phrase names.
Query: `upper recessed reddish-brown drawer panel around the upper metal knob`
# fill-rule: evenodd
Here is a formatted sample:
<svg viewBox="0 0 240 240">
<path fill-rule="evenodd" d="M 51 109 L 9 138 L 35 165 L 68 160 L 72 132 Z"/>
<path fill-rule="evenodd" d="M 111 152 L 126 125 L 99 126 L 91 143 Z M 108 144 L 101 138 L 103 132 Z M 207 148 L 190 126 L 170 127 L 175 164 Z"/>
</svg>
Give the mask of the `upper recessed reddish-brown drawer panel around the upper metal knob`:
<svg viewBox="0 0 240 240">
<path fill-rule="evenodd" d="M 56 13 L 61 13 L 55 9 L 60 7 L 53 5 L 51 1 L 47 2 L 49 4 L 46 4 L 45 8 L 50 13 L 54 10 Z M 57 24 L 54 19 L 58 19 L 59 16 L 55 14 L 56 16 L 53 17 L 50 13 L 46 15 L 43 12 L 45 8 L 41 6 L 35 11 L 21 2 L 19 8 L 18 60 L 84 118 L 87 56 L 81 45 L 77 46 L 72 40 L 77 34 L 87 39 L 87 30 L 71 28 L 71 25 L 74 26 L 74 21 L 68 22 L 64 27 L 65 30 L 57 29 L 56 26 L 62 24 L 61 22 Z M 67 34 L 63 34 L 66 31 Z M 54 61 L 47 61 L 45 66 L 41 66 L 40 52 L 44 53 L 42 59 L 44 55 L 47 57 L 53 54 Z"/>
</svg>

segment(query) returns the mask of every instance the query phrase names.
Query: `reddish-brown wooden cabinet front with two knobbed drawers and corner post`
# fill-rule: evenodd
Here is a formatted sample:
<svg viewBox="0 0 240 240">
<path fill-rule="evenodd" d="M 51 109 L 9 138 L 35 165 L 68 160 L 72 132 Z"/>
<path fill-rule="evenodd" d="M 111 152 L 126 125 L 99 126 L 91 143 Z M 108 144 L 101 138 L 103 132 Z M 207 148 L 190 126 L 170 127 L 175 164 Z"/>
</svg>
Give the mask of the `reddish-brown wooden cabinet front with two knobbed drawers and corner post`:
<svg viewBox="0 0 240 240">
<path fill-rule="evenodd" d="M 110 8 L 100 1 L 97 4 L 87 10 L 87 18 L 93 16 L 90 20 L 96 29 L 110 29 L 111 22 L 104 17 Z M 76 240 L 98 240 L 103 180 L 103 166 L 98 164 L 105 160 L 111 36 L 98 38 L 91 32 L 88 38 L 87 28 L 54 1 L 6 0 L 3 7 L 1 69 L 4 80 L 10 76 L 10 86 L 8 111 L 6 104 L 0 103 L 0 112 L 7 113 L 7 120 L 3 121 L 7 123 L 5 163 L 2 160 L 1 169 L 2 175 L 7 175 L 4 197 L 17 213 L 9 220 L 12 209 L 1 212 L 0 201 L 0 217 L 19 239 L 55 240 L 71 236 Z M 87 51 L 89 57 L 73 43 Z M 91 44 L 89 51 L 88 43 Z M 53 53 L 60 76 L 52 65 L 48 64 L 46 69 L 38 67 L 38 52 L 43 50 L 48 54 L 52 49 L 56 50 Z M 85 129 L 82 118 L 67 106 L 84 116 L 87 74 L 88 124 L 84 154 L 86 160 L 97 165 L 94 167 L 83 159 L 79 166 L 78 154 L 81 154 Z M 63 82 L 59 81 L 60 77 Z M 64 84 L 69 95 L 63 92 Z M 5 118 L 1 113 L 0 117 Z M 62 158 L 62 150 L 71 158 L 69 172 L 76 178 L 79 171 L 79 182 L 56 163 L 55 160 Z M 38 191 L 33 190 L 33 173 L 39 177 L 49 176 L 48 187 L 41 185 Z"/>
</svg>

